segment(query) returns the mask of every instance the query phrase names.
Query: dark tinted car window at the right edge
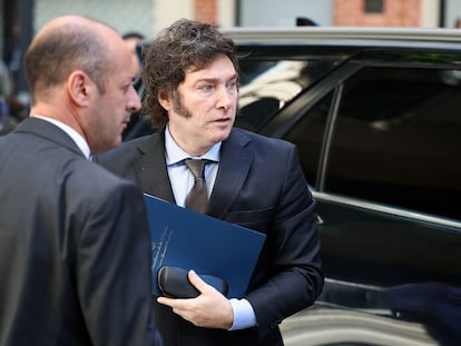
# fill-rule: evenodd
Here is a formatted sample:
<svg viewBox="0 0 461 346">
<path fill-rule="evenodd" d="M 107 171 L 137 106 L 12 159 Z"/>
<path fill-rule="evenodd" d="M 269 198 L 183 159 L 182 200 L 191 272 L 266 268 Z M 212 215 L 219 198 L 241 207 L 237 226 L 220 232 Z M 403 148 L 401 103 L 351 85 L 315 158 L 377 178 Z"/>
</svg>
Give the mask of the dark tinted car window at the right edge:
<svg viewBox="0 0 461 346">
<path fill-rule="evenodd" d="M 362 69 L 346 80 L 325 190 L 461 219 L 461 71 Z"/>
</svg>

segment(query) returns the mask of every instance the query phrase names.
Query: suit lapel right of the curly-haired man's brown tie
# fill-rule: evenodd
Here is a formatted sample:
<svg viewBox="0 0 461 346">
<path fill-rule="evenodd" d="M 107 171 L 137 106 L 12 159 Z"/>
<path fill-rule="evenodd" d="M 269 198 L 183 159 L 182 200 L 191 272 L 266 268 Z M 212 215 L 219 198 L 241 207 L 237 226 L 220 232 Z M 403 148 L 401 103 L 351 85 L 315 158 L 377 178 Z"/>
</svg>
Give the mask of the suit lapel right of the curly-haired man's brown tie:
<svg viewBox="0 0 461 346">
<path fill-rule="evenodd" d="M 233 130 L 223 142 L 219 169 L 209 197 L 208 215 L 224 219 L 238 197 L 253 162 L 253 154 L 246 149 L 248 141 L 247 136 Z"/>
</svg>

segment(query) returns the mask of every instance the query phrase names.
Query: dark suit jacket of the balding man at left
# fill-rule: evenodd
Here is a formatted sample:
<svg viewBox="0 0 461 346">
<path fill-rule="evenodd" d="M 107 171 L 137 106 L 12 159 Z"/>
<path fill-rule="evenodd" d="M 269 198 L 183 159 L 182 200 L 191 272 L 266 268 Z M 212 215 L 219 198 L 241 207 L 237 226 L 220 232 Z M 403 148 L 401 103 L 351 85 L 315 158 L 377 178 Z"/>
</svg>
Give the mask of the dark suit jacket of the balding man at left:
<svg viewBox="0 0 461 346">
<path fill-rule="evenodd" d="M 28 118 L 0 137 L 0 345 L 160 345 L 136 186 Z"/>
</svg>

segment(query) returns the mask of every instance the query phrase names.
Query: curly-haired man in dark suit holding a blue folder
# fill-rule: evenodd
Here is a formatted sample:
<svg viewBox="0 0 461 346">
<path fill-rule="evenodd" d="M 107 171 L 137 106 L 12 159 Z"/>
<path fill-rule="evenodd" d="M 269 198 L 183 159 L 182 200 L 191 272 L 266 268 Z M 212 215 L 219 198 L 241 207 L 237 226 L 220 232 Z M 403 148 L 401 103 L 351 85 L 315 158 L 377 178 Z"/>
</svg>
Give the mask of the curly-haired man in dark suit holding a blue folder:
<svg viewBox="0 0 461 346">
<path fill-rule="evenodd" d="M 227 299 L 193 270 L 197 298 L 157 298 L 166 345 L 283 345 L 278 324 L 312 305 L 323 286 L 314 200 L 296 148 L 233 129 L 235 47 L 209 24 L 173 23 L 146 51 L 143 79 L 145 111 L 158 132 L 98 160 L 143 191 L 186 206 L 194 178 L 185 159 L 205 159 L 205 212 L 267 235 L 241 299 Z"/>
</svg>

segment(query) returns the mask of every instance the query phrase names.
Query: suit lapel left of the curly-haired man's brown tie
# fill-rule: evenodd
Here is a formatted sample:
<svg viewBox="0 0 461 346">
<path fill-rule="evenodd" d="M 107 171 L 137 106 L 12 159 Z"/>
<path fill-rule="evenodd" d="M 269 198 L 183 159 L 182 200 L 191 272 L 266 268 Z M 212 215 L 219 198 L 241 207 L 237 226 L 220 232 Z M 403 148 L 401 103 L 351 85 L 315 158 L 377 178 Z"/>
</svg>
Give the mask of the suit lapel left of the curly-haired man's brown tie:
<svg viewBox="0 0 461 346">
<path fill-rule="evenodd" d="M 151 141 L 140 144 L 141 156 L 134 161 L 134 171 L 144 192 L 175 202 L 165 162 L 164 131 L 151 135 Z"/>
</svg>

